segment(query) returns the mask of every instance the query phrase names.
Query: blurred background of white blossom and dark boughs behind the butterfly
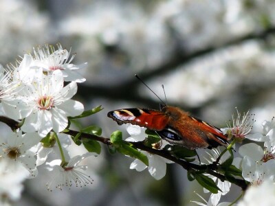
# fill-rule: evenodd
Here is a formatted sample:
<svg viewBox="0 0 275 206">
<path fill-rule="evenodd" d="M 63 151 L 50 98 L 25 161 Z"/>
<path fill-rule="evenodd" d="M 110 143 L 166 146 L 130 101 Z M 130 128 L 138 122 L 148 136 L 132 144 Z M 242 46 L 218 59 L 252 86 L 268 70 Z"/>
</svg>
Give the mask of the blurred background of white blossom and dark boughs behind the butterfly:
<svg viewBox="0 0 275 206">
<path fill-rule="evenodd" d="M 45 43 L 77 52 L 82 71 L 76 99 L 104 111 L 83 126 L 102 127 L 103 136 L 124 130 L 107 118 L 115 108 L 158 108 L 159 100 L 135 79 L 138 73 L 169 105 L 225 127 L 235 107 L 255 113 L 255 131 L 275 115 L 275 1 L 267 0 L 0 0 L 0 63 L 15 62 Z M 124 133 L 125 137 L 128 137 Z M 85 152 L 72 147 L 73 155 Z M 148 171 L 129 170 L 133 159 L 102 154 L 89 158 L 94 185 L 47 192 L 39 168 L 25 182 L 16 205 L 195 205 L 203 194 L 178 165 L 155 181 Z M 233 200 L 239 190 L 228 195 Z M 204 195 L 208 199 L 208 195 Z"/>
</svg>

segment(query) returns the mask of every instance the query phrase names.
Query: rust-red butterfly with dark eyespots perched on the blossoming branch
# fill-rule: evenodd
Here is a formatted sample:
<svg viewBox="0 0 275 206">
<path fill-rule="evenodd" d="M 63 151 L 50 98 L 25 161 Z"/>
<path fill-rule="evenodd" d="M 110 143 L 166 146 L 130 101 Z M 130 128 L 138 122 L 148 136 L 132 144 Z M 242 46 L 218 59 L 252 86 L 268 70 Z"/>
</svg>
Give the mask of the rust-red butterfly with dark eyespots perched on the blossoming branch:
<svg viewBox="0 0 275 206">
<path fill-rule="evenodd" d="M 190 150 L 228 146 L 227 137 L 219 128 L 192 117 L 175 106 L 160 104 L 159 111 L 148 108 L 122 108 L 110 111 L 107 116 L 119 125 L 130 123 L 146 127 L 170 144 L 184 146 Z"/>
</svg>

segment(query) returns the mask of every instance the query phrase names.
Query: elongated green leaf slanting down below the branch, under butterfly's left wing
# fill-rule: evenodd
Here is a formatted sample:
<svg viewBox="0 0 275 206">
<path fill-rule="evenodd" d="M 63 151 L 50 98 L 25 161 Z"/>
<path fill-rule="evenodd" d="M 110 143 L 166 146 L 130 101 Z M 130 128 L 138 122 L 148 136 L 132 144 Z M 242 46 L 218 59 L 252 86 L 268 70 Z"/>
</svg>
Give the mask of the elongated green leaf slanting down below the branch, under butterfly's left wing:
<svg viewBox="0 0 275 206">
<path fill-rule="evenodd" d="M 146 155 L 144 155 L 139 150 L 132 148 L 129 143 L 123 142 L 119 148 L 117 148 L 118 152 L 122 153 L 123 155 L 128 155 L 130 157 L 133 157 L 135 159 L 139 159 L 142 161 L 145 165 L 148 166 L 148 158 Z"/>
</svg>

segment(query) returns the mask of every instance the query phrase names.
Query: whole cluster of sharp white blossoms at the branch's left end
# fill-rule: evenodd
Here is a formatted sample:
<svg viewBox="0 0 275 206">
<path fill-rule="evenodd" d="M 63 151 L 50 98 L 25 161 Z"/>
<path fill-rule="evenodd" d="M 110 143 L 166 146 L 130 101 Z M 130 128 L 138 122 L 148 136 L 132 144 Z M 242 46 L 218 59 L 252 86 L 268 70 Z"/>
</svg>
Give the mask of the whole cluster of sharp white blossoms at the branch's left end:
<svg viewBox="0 0 275 206">
<path fill-rule="evenodd" d="M 5 176 L 0 179 L 1 203 L 20 198 L 22 182 L 34 178 L 42 164 L 54 174 L 48 190 L 92 182 L 82 171 L 86 167 L 78 164 L 93 154 L 71 159 L 67 151 L 71 138 L 61 133 L 69 125 L 68 117 L 84 111 L 83 104 L 72 97 L 77 83 L 85 82 L 78 69 L 87 64 L 72 64 L 74 56 L 60 44 L 57 48 L 45 45 L 24 54 L 15 65 L 0 68 L 1 122 L 11 128 L 0 135 L 0 173 Z M 50 161 L 54 151 L 61 157 Z"/>
</svg>

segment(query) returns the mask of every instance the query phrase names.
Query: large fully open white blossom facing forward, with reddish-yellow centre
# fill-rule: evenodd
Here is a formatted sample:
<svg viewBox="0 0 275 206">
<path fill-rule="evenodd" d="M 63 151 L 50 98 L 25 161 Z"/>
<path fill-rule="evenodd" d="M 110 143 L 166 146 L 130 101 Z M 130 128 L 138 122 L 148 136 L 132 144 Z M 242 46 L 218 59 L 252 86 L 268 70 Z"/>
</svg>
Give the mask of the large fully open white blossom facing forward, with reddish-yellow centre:
<svg viewBox="0 0 275 206">
<path fill-rule="evenodd" d="M 46 76 L 42 70 L 37 71 L 32 84 L 23 89 L 25 105 L 19 111 L 28 113 L 22 130 L 26 133 L 38 131 L 45 137 L 50 130 L 56 133 L 64 130 L 68 125 L 68 116 L 83 113 L 83 104 L 71 100 L 76 94 L 76 82 L 64 86 L 63 74 L 60 70 Z"/>
</svg>

